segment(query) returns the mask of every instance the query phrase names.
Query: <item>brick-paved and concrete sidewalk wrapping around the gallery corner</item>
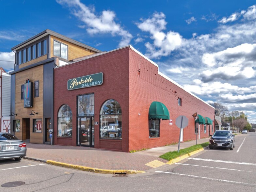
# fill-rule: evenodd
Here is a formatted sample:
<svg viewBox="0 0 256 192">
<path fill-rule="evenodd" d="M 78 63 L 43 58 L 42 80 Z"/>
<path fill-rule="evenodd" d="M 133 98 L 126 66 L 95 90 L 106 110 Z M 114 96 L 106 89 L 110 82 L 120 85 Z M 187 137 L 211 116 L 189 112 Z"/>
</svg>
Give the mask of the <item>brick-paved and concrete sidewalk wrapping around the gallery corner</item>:
<svg viewBox="0 0 256 192">
<path fill-rule="evenodd" d="M 209 141 L 209 138 L 199 139 L 197 143 L 201 144 L 207 141 Z M 178 150 L 178 143 L 134 153 L 108 151 L 79 146 L 51 146 L 33 143 L 26 144 L 27 156 L 25 159 L 40 160 L 53 165 L 58 164 L 63 167 L 75 165 L 75 167 L 71 168 L 78 167 L 78 169 L 81 170 L 94 172 L 113 173 L 110 170 L 114 170 L 114 172 L 117 173 L 126 172 L 128 174 L 129 171 L 130 174 L 146 172 L 154 167 L 165 165 L 168 161 L 159 158 L 159 156 L 169 151 Z M 180 150 L 192 145 L 196 145 L 196 140 L 181 143 Z M 155 165 L 152 166 L 152 163 Z M 95 171 L 95 169 L 100 170 Z"/>
</svg>

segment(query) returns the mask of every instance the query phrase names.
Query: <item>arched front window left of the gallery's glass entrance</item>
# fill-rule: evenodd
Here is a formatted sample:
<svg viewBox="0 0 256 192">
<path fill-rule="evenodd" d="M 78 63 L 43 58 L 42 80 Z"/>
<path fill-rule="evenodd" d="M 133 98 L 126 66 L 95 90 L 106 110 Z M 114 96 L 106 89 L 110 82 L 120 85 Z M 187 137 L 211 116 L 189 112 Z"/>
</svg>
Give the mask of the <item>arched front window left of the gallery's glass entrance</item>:
<svg viewBox="0 0 256 192">
<path fill-rule="evenodd" d="M 58 112 L 58 137 L 72 137 L 72 110 L 64 104 Z"/>
</svg>

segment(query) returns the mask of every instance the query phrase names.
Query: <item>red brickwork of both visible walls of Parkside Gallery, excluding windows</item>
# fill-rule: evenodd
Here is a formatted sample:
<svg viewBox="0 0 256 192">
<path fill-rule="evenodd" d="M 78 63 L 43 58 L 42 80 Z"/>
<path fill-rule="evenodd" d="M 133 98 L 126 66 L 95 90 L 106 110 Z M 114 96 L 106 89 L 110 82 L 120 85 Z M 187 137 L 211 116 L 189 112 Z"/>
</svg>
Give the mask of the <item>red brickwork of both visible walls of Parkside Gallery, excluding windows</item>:
<svg viewBox="0 0 256 192">
<path fill-rule="evenodd" d="M 104 74 L 103 85 L 70 91 L 67 89 L 68 79 L 98 72 Z M 122 140 L 100 139 L 100 127 L 95 125 L 95 148 L 129 152 L 178 142 L 180 129 L 176 127 L 175 119 L 180 115 L 189 119 L 188 126 L 184 128 L 183 140 L 195 140 L 192 115 L 197 112 L 203 117 L 214 119 L 214 108 L 159 75 L 156 65 L 126 47 L 54 70 L 55 132 L 59 107 L 68 104 L 73 113 L 72 138 L 57 138 L 55 133 L 55 144 L 76 145 L 76 97 L 88 93 L 94 93 L 95 121 L 100 122 L 101 106 L 108 99 L 119 102 L 122 109 Z M 178 98 L 182 99 L 182 106 L 178 106 Z M 159 138 L 149 138 L 148 112 L 153 101 L 165 104 L 173 120 L 172 125 L 169 125 L 168 120 L 161 120 Z M 206 134 L 203 128 L 200 129 L 200 135 L 201 138 L 208 137 L 208 126 Z"/>
</svg>

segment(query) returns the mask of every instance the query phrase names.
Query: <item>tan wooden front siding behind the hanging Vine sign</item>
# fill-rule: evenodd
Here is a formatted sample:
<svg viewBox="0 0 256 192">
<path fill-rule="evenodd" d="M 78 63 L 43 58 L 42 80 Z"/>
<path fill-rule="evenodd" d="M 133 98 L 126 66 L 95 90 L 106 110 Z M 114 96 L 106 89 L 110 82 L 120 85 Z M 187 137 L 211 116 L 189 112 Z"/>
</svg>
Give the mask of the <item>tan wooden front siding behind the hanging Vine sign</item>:
<svg viewBox="0 0 256 192">
<path fill-rule="evenodd" d="M 23 119 L 30 119 L 30 142 L 31 143 L 43 143 L 43 65 L 16 73 L 15 76 L 15 119 L 21 120 L 21 132 L 15 133 L 17 136 L 23 136 L 26 134 L 23 132 Z M 21 85 L 26 83 L 26 79 L 31 82 L 39 81 L 39 97 L 34 97 L 34 84 L 33 84 L 33 107 L 24 108 L 24 100 L 21 99 Z M 29 115 L 31 111 L 34 110 L 38 112 L 38 115 Z M 42 133 L 34 133 L 33 129 L 33 119 L 42 119 Z"/>
</svg>

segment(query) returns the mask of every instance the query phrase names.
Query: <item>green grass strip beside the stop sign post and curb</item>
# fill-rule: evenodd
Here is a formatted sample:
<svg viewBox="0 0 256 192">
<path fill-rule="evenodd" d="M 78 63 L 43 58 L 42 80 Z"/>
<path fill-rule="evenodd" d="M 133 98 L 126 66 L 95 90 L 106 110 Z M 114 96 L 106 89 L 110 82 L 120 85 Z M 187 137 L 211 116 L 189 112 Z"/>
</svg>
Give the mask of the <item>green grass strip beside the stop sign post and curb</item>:
<svg viewBox="0 0 256 192">
<path fill-rule="evenodd" d="M 170 151 L 170 152 L 167 152 L 167 153 L 161 155 L 160 158 L 170 161 L 170 160 L 175 159 L 179 156 L 182 156 L 182 155 L 188 154 L 190 152 L 193 152 L 193 151 L 202 149 L 204 147 L 207 147 L 208 145 L 209 145 L 209 142 L 205 142 L 205 143 L 202 143 L 202 144 L 193 145 L 193 146 L 185 148 L 185 149 L 181 149 L 179 153 L 178 153 L 178 151 Z"/>
</svg>

